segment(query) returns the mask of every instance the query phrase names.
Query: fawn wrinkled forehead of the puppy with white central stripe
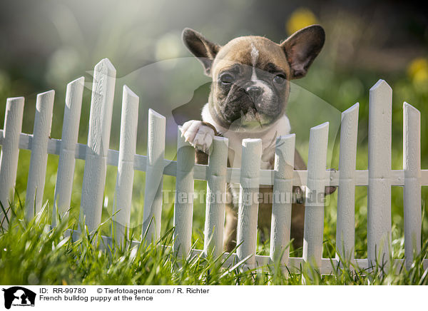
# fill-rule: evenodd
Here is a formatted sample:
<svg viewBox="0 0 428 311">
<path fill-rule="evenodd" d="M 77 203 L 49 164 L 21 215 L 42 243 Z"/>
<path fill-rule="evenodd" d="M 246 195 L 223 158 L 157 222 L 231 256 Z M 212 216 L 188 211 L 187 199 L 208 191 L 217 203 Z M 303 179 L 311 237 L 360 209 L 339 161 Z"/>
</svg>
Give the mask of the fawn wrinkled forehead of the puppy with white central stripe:
<svg viewBox="0 0 428 311">
<path fill-rule="evenodd" d="M 236 63 L 264 71 L 290 73 L 290 66 L 282 48 L 269 39 L 245 36 L 233 39 L 223 46 L 215 57 L 213 75 Z"/>
</svg>

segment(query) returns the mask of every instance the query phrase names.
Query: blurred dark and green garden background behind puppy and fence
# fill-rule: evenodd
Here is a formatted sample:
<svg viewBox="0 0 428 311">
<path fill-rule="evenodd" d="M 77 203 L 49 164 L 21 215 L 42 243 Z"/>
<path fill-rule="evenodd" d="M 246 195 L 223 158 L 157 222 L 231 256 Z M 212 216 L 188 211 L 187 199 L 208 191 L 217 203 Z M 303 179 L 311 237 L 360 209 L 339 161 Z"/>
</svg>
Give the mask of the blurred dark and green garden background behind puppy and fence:
<svg viewBox="0 0 428 311">
<path fill-rule="evenodd" d="M 181 43 L 183 28 L 198 30 L 218 44 L 250 34 L 279 43 L 304 26 L 321 24 L 327 34 L 324 49 L 307 76 L 293 81 L 288 108 L 293 128 L 310 120 L 300 132 L 296 130 L 304 158 L 310 126 L 330 121 L 330 166 L 337 168 L 340 113 L 360 102 L 357 169 L 367 169 L 369 89 L 382 78 L 394 92 L 392 165 L 402 169 L 403 101 L 422 113 L 422 155 L 428 154 L 428 14 L 421 7 L 417 1 L 382 0 L 1 1 L 0 127 L 6 98 L 25 96 L 23 132 L 32 133 L 36 93 L 55 89 L 51 136 L 61 138 L 66 84 L 85 76 L 88 88 L 83 95 L 79 143 L 86 143 L 91 70 L 101 58 L 109 58 L 118 77 L 111 148 L 118 148 L 121 91 L 126 83 L 140 96 L 138 153 L 146 153 L 147 111 L 154 108 L 168 117 L 168 154 L 173 158 L 176 123 L 172 111 L 189 102 L 202 108 L 210 82 Z M 312 113 L 307 113 L 309 106 L 305 105 L 313 108 Z M 194 108 L 188 113 L 195 111 L 199 113 Z M 21 151 L 23 160 L 16 183 L 23 197 L 28 154 Z M 53 198 L 57 161 L 56 156 L 49 156 L 46 199 Z M 76 185 L 81 184 L 84 165 L 77 162 Z M 428 157 L 422 157 L 422 168 L 428 168 Z M 116 170 L 109 168 L 107 208 L 113 201 L 109 190 L 114 189 L 115 174 Z M 142 213 L 143 183 L 144 174 L 136 173 L 134 198 L 138 199 L 133 209 L 138 217 Z M 173 180 L 166 178 L 165 187 L 169 185 L 173 186 Z M 72 205 L 78 205 L 80 190 L 78 186 L 74 189 Z M 357 191 L 357 213 L 362 215 L 367 213 L 366 194 L 365 187 Z M 423 191 L 424 202 L 426 198 L 427 191 Z M 393 223 L 399 223 L 401 188 L 393 189 L 393 201 Z M 334 196 L 331 206 L 328 215 L 333 218 Z M 195 206 L 195 218 L 198 213 L 203 215 L 204 210 L 198 212 Z M 364 237 L 366 224 L 357 221 L 356 225 Z"/>
</svg>

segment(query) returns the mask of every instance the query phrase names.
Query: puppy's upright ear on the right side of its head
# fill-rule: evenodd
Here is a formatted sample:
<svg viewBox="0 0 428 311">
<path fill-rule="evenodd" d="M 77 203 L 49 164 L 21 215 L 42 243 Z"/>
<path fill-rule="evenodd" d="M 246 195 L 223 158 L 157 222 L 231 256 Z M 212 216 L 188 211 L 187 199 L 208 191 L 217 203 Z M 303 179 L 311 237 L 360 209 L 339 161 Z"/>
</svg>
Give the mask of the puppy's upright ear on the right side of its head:
<svg viewBox="0 0 428 311">
<path fill-rule="evenodd" d="M 320 53 L 325 41 L 325 32 L 320 25 L 307 26 L 296 31 L 282 42 L 287 61 L 290 63 L 291 77 L 302 78 L 312 61 Z"/>
</svg>

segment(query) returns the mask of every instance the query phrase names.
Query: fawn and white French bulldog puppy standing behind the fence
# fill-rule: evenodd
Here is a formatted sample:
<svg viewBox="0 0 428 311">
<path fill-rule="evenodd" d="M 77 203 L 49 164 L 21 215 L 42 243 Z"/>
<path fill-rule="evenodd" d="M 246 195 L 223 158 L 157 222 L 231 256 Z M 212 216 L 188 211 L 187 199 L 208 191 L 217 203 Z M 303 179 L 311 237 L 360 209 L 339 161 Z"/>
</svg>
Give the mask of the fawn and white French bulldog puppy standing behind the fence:
<svg viewBox="0 0 428 311">
<path fill-rule="evenodd" d="M 240 168 L 243 138 L 261 138 L 261 169 L 272 169 L 275 141 L 290 133 L 285 115 L 290 80 L 302 78 L 320 53 L 325 32 L 319 25 L 307 26 L 280 44 L 263 36 L 241 36 L 220 46 L 193 29 L 184 29 L 183 42 L 202 63 L 205 74 L 213 79 L 202 121 L 188 121 L 182 135 L 197 150 L 196 162 L 208 163 L 215 135 L 229 139 L 228 165 Z M 295 152 L 295 170 L 306 170 Z M 269 198 L 272 186 L 260 185 L 260 198 Z M 295 192 L 301 191 L 295 187 Z M 329 188 L 328 193 L 334 191 Z M 224 250 L 236 245 L 239 185 L 228 185 L 233 197 L 226 204 Z M 267 237 L 270 232 L 272 202 L 259 202 L 258 228 Z M 302 246 L 305 208 L 302 200 L 292 204 L 291 238 L 293 246 Z"/>
</svg>

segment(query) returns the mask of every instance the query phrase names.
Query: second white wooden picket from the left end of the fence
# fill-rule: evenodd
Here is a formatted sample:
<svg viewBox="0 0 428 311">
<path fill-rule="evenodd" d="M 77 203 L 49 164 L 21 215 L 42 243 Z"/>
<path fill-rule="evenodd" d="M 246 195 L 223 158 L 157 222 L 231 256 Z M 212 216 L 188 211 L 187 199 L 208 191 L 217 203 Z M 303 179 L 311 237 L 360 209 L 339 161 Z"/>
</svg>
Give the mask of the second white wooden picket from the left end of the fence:
<svg viewBox="0 0 428 311">
<path fill-rule="evenodd" d="M 55 91 L 37 95 L 29 178 L 26 188 L 26 219 L 31 220 L 41 210 L 48 163 L 48 142 L 51 134 Z"/>
</svg>

